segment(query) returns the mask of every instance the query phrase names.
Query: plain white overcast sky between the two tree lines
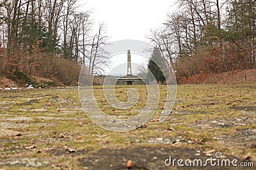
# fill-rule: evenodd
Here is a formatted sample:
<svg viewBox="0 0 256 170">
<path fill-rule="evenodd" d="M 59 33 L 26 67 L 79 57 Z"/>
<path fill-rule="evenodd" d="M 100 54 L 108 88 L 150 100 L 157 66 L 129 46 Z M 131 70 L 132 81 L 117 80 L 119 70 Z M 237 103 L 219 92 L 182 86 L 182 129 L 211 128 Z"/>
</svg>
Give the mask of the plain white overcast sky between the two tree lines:
<svg viewBox="0 0 256 170">
<path fill-rule="evenodd" d="M 168 12 L 174 9 L 176 0 L 79 0 L 83 4 L 80 10 L 92 10 L 92 18 L 95 25 L 103 22 L 107 27 L 107 35 L 109 42 L 135 39 L 148 42 L 146 36 L 150 29 L 161 27 L 166 20 Z M 106 69 L 110 71 L 116 64 L 126 63 L 127 55 L 115 56 L 111 58 L 111 68 Z M 121 62 L 122 58 L 122 62 Z M 140 58 L 140 59 L 139 59 Z M 132 57 L 132 62 L 137 64 L 146 63 L 146 59 L 141 57 Z M 124 72 L 126 73 L 126 67 Z M 132 73 L 136 73 L 133 69 Z"/>
</svg>

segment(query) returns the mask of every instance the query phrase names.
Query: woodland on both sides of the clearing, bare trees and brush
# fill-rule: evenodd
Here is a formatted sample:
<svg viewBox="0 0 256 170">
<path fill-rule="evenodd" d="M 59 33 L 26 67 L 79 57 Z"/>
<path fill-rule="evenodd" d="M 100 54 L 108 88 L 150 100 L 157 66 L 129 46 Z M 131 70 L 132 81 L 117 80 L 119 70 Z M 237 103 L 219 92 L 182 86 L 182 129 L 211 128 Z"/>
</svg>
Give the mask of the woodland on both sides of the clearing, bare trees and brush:
<svg viewBox="0 0 256 170">
<path fill-rule="evenodd" d="M 147 38 L 180 83 L 256 67 L 255 0 L 177 0 L 176 4 L 178 10 Z M 1 1 L 0 76 L 17 84 L 42 77 L 76 85 L 84 64 L 88 73 L 102 74 L 100 66 L 108 64 L 102 48 L 108 43 L 106 27 L 99 24 L 95 31 L 92 12 L 78 9 L 77 0 Z"/>
</svg>

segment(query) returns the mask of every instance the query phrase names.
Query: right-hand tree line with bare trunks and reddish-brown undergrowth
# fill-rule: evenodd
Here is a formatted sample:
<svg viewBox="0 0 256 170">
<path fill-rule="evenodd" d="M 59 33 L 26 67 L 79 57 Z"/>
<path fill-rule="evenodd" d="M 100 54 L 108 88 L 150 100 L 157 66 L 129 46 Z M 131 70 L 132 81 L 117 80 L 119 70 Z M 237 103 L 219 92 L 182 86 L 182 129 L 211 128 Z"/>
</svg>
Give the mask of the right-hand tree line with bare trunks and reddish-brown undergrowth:
<svg viewBox="0 0 256 170">
<path fill-rule="evenodd" d="M 148 39 L 179 80 L 256 67 L 254 0 L 178 0 L 177 5 Z"/>
</svg>

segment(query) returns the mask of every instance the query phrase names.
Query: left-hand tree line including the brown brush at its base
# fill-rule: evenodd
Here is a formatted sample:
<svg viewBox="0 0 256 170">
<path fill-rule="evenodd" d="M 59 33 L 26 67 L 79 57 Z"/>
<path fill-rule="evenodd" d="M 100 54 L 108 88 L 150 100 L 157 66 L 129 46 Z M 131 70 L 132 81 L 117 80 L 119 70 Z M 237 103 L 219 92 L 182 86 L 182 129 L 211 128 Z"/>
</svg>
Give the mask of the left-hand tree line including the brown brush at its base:
<svg viewBox="0 0 256 170">
<path fill-rule="evenodd" d="M 79 11 L 77 0 L 1 1 L 0 73 L 76 80 L 85 63 L 102 72 L 108 36 L 104 24 L 93 31 L 91 13 Z"/>
</svg>

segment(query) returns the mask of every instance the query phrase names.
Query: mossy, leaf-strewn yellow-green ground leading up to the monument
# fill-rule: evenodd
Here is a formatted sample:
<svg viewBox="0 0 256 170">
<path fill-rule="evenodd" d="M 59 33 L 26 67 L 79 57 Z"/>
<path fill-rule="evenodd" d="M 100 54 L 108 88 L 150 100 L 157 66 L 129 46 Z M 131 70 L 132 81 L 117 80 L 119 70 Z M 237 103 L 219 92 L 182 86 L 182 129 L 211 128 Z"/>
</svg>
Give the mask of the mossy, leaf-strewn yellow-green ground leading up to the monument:
<svg viewBox="0 0 256 170">
<path fill-rule="evenodd" d="M 120 101 L 127 100 L 129 88 L 116 87 L 115 93 Z M 139 100 L 129 110 L 109 106 L 102 87 L 95 87 L 93 92 L 102 111 L 114 117 L 129 118 L 138 114 L 147 102 L 147 88 L 142 85 L 134 88 L 139 92 Z M 77 160 L 100 148 L 127 146 L 215 150 L 238 158 L 251 153 L 252 161 L 255 161 L 256 85 L 178 85 L 173 111 L 163 123 L 159 123 L 157 119 L 163 110 L 165 89 L 164 85 L 160 86 L 159 106 L 151 121 L 130 132 L 106 131 L 93 124 L 81 108 L 77 89 L 1 90 L 0 129 L 12 129 L 21 134 L 0 138 L 1 161 L 36 157 L 47 160 L 40 169 L 60 164 L 65 165 L 64 169 L 79 169 Z M 191 142 L 177 145 L 148 142 L 157 138 Z M 72 153 L 68 150 L 70 148 L 77 152 Z M 2 165 L 6 169 L 14 168 Z M 22 167 L 19 164 L 15 168 Z"/>
</svg>

